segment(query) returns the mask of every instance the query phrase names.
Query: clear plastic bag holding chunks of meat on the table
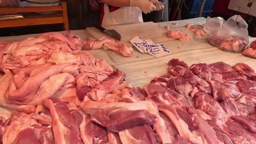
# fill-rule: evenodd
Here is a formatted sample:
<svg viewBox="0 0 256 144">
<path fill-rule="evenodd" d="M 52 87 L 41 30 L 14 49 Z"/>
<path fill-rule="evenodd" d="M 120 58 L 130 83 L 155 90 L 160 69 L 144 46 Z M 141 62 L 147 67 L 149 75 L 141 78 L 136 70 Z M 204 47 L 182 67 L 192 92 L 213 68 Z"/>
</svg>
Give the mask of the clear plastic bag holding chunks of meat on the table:
<svg viewBox="0 0 256 144">
<path fill-rule="evenodd" d="M 247 23 L 240 15 L 222 20 L 219 17 L 207 19 L 204 30 L 210 35 L 208 42 L 223 51 L 242 52 L 249 43 Z"/>
</svg>

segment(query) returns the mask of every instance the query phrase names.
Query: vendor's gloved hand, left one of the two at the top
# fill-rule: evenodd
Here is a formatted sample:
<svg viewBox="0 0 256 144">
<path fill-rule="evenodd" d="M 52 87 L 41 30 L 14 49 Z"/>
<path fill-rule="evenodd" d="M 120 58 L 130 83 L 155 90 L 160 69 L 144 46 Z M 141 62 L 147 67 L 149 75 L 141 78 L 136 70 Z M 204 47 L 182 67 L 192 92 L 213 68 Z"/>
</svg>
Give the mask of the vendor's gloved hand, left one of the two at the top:
<svg viewBox="0 0 256 144">
<path fill-rule="evenodd" d="M 145 14 L 157 9 L 156 6 L 148 0 L 130 0 L 131 7 L 138 7 Z"/>
</svg>

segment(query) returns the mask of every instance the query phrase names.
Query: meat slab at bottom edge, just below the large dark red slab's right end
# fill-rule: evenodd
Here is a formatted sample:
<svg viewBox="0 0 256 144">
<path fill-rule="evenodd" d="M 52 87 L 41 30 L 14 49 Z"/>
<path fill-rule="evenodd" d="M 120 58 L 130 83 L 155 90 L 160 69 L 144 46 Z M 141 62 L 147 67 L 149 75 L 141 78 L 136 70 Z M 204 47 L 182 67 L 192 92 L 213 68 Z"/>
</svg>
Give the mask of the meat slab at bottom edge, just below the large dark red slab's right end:
<svg viewBox="0 0 256 144">
<path fill-rule="evenodd" d="M 158 143 L 152 128 L 147 124 L 119 131 L 118 134 L 123 143 Z"/>
</svg>

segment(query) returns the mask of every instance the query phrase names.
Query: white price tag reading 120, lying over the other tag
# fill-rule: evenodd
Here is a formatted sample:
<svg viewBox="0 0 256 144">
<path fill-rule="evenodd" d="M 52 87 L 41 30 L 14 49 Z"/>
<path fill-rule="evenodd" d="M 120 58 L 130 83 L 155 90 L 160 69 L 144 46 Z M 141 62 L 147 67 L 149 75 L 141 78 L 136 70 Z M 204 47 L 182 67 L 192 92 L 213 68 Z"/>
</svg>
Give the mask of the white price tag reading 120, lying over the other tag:
<svg viewBox="0 0 256 144">
<path fill-rule="evenodd" d="M 154 57 L 166 56 L 171 53 L 163 44 L 143 45 L 143 49 Z"/>
</svg>

